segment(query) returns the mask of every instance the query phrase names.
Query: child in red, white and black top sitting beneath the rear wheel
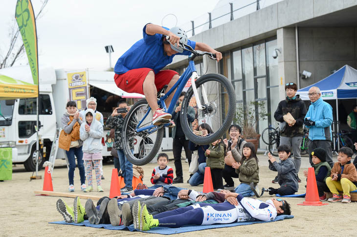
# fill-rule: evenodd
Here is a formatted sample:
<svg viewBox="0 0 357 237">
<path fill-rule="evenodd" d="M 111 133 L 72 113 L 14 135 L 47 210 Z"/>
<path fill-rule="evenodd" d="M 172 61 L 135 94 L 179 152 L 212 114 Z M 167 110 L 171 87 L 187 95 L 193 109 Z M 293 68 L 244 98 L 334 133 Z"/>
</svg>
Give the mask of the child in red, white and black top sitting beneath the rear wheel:
<svg viewBox="0 0 357 237">
<path fill-rule="evenodd" d="M 166 153 L 160 153 L 157 156 L 156 168 L 153 170 L 151 176 L 151 183 L 154 184 L 149 188 L 159 188 L 162 185 L 172 185 L 172 180 L 174 179 L 174 170 L 168 166 L 169 156 Z"/>
</svg>

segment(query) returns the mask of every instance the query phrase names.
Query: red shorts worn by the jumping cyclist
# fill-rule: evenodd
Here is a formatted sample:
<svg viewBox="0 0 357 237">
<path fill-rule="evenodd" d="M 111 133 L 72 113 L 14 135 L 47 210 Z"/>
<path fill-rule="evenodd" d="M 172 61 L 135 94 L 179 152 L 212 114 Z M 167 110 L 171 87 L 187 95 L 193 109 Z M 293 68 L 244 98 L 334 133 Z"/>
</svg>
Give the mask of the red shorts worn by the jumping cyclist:
<svg viewBox="0 0 357 237">
<path fill-rule="evenodd" d="M 129 70 L 123 74 L 115 74 L 114 81 L 115 84 L 125 92 L 128 93 L 139 93 L 144 95 L 142 85 L 148 73 L 153 69 L 150 68 L 137 68 Z M 165 85 L 168 85 L 170 80 L 179 74 L 173 70 L 162 70 L 155 74 L 155 86 L 156 90 L 159 91 Z"/>
</svg>

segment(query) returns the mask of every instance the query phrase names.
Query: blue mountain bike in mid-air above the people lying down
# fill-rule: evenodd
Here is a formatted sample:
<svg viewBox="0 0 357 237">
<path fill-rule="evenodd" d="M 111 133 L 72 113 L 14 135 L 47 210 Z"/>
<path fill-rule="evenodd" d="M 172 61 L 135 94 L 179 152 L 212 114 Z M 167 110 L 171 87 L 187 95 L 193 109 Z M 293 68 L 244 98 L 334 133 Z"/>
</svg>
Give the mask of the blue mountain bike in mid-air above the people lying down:
<svg viewBox="0 0 357 237">
<path fill-rule="evenodd" d="M 180 46 L 192 53 L 188 57 L 189 64 L 182 76 L 175 85 L 167 92 L 164 90 L 158 92 L 157 104 L 159 108 L 172 114 L 176 101 L 182 92 L 187 81 L 191 78 L 191 87 L 187 90 L 181 104 L 180 123 L 184 134 L 194 143 L 204 145 L 212 143 L 221 138 L 228 130 L 234 114 L 236 112 L 236 95 L 232 83 L 220 74 L 206 74 L 198 77 L 194 59 L 207 55 L 210 59 L 216 59 L 215 55 L 208 52 L 199 53 L 190 45 L 180 43 Z M 176 90 L 173 99 L 168 108 L 165 105 L 167 99 Z M 222 98 L 220 97 L 222 95 Z M 196 101 L 196 102 L 195 102 Z M 191 122 L 188 121 L 189 104 L 197 104 L 197 115 L 199 123 L 210 125 L 214 133 L 210 136 L 201 137 L 193 133 Z M 224 105 L 226 112 L 221 106 Z M 164 135 L 164 128 L 170 123 L 153 125 L 153 111 L 145 99 L 136 102 L 125 117 L 122 133 L 124 142 L 124 154 L 128 160 L 135 165 L 144 165 L 149 163 L 160 148 Z M 139 146 L 138 149 L 134 149 Z M 134 154 L 132 150 L 138 150 Z"/>
</svg>

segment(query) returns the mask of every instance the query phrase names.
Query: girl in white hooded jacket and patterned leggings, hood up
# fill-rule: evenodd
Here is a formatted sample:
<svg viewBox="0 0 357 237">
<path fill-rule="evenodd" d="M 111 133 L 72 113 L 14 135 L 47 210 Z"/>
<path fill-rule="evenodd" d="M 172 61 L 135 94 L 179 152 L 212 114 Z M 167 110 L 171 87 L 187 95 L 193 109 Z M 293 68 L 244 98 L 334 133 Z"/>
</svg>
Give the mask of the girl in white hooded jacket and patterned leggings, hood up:
<svg viewBox="0 0 357 237">
<path fill-rule="evenodd" d="M 101 186 L 102 175 L 100 172 L 100 160 L 102 157 L 102 136 L 103 136 L 103 126 L 95 118 L 95 112 L 92 109 L 87 109 L 85 112 L 86 122 L 82 123 L 79 130 L 79 135 L 81 140 L 83 140 L 83 160 L 86 162 L 86 173 L 88 179 L 88 187 L 84 192 L 93 191 L 93 181 L 92 181 L 92 163 L 94 164 L 95 178 L 97 180 L 97 191 L 103 192 Z"/>
</svg>

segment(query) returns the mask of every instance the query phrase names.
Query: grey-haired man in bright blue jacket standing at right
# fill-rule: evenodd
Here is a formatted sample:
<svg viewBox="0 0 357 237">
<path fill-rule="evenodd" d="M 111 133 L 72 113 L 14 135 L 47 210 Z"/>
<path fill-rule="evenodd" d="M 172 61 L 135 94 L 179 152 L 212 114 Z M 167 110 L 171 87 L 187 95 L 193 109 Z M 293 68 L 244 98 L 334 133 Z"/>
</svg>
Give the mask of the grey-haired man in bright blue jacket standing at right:
<svg viewBox="0 0 357 237">
<path fill-rule="evenodd" d="M 312 86 L 308 94 L 311 105 L 305 116 L 304 124 L 309 128 L 309 154 L 319 147 L 326 151 L 326 161 L 332 167 L 331 124 L 333 120 L 332 107 L 321 98 L 320 88 Z M 310 157 L 312 165 L 312 157 Z"/>
</svg>

